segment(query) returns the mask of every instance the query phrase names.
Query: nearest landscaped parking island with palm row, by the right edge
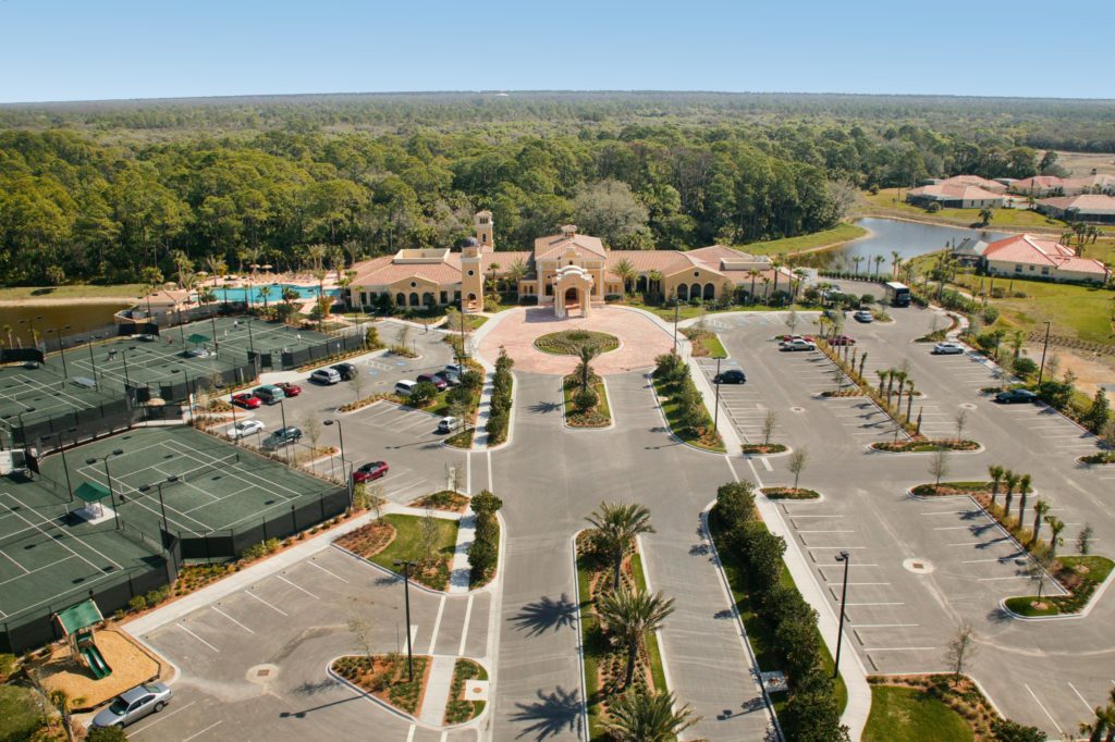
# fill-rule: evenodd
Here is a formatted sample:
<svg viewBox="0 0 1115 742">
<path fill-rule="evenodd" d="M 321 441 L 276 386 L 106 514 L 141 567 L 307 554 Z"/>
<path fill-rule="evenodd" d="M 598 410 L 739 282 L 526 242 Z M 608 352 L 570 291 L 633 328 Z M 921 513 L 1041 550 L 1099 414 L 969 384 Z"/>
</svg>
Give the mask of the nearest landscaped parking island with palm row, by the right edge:
<svg viewBox="0 0 1115 742">
<path fill-rule="evenodd" d="M 1049 515 L 1049 505 L 1038 497 L 1027 509 L 1027 497 L 1032 494 L 1029 487 L 1029 476 L 1016 476 L 1014 472 L 991 467 L 996 477 L 992 481 L 944 481 L 939 484 L 918 485 L 910 489 L 915 497 L 970 497 L 996 523 L 998 523 L 1018 546 L 1030 557 L 1026 576 L 1038 585 L 1038 595 L 1024 595 L 1007 598 L 1004 605 L 1020 617 L 1040 617 L 1072 615 L 1080 613 L 1096 589 L 1104 584 L 1115 567 L 1105 556 L 1095 555 L 1058 555 L 1056 546 L 1064 539 L 1060 534 L 1065 524 L 1056 516 Z M 1017 488 L 1017 489 L 1016 489 Z M 1019 496 L 1017 510 L 1014 507 L 1015 495 Z M 1004 501 L 1000 505 L 999 496 Z M 1012 514 L 1017 512 L 1018 516 Z M 1032 518 L 1032 527 L 1026 521 Z M 1050 531 L 1048 541 L 1040 538 L 1043 525 Z M 1090 526 L 1087 524 L 1077 536 L 1076 546 L 1082 551 L 1090 549 Z M 1053 577 L 1065 589 L 1067 595 L 1041 595 L 1040 587 L 1046 576 Z"/>
</svg>

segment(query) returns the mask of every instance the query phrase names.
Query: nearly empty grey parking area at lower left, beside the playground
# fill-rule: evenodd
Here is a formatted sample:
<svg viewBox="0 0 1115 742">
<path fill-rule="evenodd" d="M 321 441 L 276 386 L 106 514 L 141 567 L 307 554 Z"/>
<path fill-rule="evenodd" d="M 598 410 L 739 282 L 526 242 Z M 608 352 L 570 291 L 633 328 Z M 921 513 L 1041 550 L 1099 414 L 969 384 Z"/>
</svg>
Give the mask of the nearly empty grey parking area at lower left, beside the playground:
<svg viewBox="0 0 1115 742">
<path fill-rule="evenodd" d="M 181 673 L 173 703 L 129 728 L 129 739 L 301 741 L 359 729 L 382 740 L 477 739 L 475 729 L 444 734 L 391 714 L 327 674 L 337 656 L 362 652 L 347 626 L 353 614 L 372 624 L 374 651 L 405 655 L 400 580 L 326 547 L 224 593 L 162 625 L 126 626 Z M 411 588 L 415 653 L 485 657 L 489 599 Z"/>
</svg>

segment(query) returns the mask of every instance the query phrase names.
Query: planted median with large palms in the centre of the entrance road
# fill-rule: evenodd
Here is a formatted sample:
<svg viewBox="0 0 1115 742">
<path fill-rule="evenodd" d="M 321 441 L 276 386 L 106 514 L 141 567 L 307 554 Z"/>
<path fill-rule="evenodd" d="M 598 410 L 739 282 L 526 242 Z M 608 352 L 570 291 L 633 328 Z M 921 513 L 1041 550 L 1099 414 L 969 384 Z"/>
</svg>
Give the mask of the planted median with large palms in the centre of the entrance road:
<svg viewBox="0 0 1115 742">
<path fill-rule="evenodd" d="M 589 738 L 612 739 L 629 710 L 657 705 L 672 739 L 696 719 L 666 685 L 657 632 L 673 601 L 648 590 L 638 550 L 638 535 L 653 530 L 650 511 L 602 502 L 589 521 L 594 527 L 578 534 L 574 555 Z"/>
</svg>

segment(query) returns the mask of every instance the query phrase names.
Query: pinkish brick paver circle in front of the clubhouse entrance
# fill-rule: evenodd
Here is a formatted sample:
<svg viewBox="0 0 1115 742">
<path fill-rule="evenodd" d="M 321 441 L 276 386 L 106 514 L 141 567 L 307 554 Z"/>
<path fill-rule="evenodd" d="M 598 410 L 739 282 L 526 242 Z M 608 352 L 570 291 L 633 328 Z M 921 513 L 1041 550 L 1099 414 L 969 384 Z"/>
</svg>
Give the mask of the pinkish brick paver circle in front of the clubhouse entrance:
<svg viewBox="0 0 1115 742">
<path fill-rule="evenodd" d="M 500 324 L 481 341 L 479 352 L 494 362 L 500 346 L 515 360 L 516 371 L 530 373 L 572 373 L 576 359 L 551 355 L 534 348 L 534 340 L 562 330 L 593 330 L 620 339 L 620 346 L 597 358 L 593 370 L 601 374 L 626 373 L 655 365 L 655 357 L 670 350 L 672 336 L 639 312 L 615 306 L 594 306 L 588 318 L 559 320 L 550 307 L 510 310 Z"/>
</svg>

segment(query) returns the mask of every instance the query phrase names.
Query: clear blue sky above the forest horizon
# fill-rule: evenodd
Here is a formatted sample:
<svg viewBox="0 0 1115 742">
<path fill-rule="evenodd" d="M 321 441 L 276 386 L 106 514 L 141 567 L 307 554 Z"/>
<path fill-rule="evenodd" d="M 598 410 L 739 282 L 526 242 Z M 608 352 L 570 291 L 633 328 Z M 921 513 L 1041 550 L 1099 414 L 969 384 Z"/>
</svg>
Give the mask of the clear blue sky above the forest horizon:
<svg viewBox="0 0 1115 742">
<path fill-rule="evenodd" d="M 0 0 L 0 101 L 658 89 L 1115 98 L 1115 1 Z"/>
</svg>

